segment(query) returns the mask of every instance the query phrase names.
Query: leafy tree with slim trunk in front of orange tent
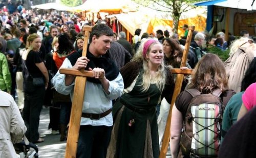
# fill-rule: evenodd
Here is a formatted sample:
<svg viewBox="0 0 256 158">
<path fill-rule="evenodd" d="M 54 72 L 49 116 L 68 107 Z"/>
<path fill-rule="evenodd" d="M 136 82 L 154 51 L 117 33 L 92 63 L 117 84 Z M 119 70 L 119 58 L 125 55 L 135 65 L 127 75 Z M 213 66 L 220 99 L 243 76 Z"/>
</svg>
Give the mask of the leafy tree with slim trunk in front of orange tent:
<svg viewBox="0 0 256 158">
<path fill-rule="evenodd" d="M 173 31 L 177 33 L 179 19 L 182 12 L 186 12 L 188 10 L 196 8 L 196 6 L 192 6 L 191 3 L 200 2 L 201 0 L 133 0 L 137 4 L 142 6 L 162 11 L 169 12 L 173 17 L 174 29 Z"/>
</svg>

